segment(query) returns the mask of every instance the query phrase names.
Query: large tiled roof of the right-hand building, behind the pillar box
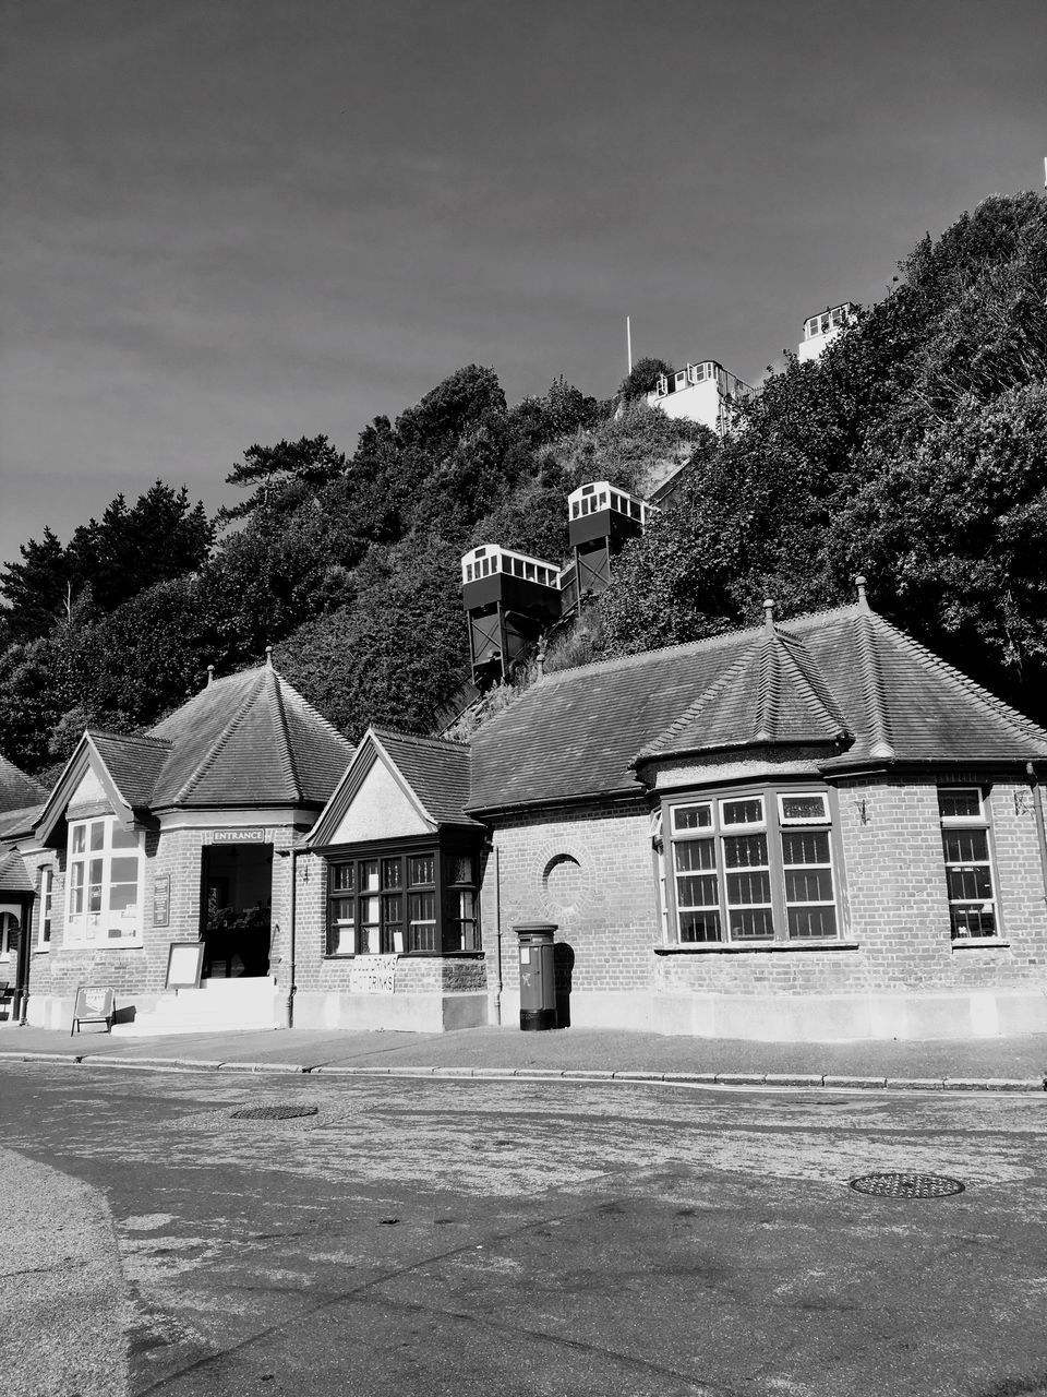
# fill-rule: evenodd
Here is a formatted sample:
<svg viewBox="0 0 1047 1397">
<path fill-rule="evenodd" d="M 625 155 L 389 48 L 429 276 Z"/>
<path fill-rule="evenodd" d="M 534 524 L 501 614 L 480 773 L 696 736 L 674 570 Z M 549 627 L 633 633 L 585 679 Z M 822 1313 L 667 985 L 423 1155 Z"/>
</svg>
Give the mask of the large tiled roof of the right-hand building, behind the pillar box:
<svg viewBox="0 0 1047 1397">
<path fill-rule="evenodd" d="M 1047 760 L 1047 732 L 867 605 L 549 675 L 472 739 L 472 812 L 638 792 L 673 754 L 821 746 L 861 763 Z"/>
</svg>

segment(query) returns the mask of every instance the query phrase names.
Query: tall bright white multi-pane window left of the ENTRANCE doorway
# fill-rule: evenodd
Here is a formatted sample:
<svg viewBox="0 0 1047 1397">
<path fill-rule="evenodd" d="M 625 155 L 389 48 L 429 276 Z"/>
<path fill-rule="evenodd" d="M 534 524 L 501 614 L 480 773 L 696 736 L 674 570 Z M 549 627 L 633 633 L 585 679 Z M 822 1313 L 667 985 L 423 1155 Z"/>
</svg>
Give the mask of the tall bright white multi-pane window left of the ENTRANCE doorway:
<svg viewBox="0 0 1047 1397">
<path fill-rule="evenodd" d="M 70 943 L 141 943 L 142 837 L 114 816 L 68 830 L 66 936 Z"/>
</svg>

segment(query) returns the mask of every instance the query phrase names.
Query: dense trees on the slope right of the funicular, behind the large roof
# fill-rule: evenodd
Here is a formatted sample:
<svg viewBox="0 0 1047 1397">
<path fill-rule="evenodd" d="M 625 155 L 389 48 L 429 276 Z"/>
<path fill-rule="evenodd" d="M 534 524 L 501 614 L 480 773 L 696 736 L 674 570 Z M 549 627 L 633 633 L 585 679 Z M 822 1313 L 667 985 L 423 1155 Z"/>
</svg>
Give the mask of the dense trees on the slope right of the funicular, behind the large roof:
<svg viewBox="0 0 1047 1397">
<path fill-rule="evenodd" d="M 741 409 L 604 598 L 603 652 L 853 599 L 1047 719 L 1047 203 L 994 197 Z"/>
</svg>

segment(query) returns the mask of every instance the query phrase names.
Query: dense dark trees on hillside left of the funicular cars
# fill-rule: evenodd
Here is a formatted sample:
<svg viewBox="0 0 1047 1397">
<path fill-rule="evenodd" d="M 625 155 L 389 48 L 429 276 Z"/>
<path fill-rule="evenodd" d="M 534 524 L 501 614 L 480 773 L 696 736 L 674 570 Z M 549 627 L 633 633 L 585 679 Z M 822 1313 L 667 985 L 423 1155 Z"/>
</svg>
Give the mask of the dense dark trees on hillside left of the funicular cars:
<svg viewBox="0 0 1047 1397">
<path fill-rule="evenodd" d="M 63 546 L 6 570 L 0 750 L 47 773 L 87 724 L 135 731 L 265 647 L 349 735 L 426 728 L 465 678 L 461 553 L 501 541 L 560 560 L 565 495 L 637 488 L 699 433 L 645 407 L 617 419 L 557 379 L 508 407 L 490 369 L 451 374 L 352 455 L 325 436 L 254 444 L 226 475 L 243 499 L 214 528 L 155 486 Z"/>
</svg>

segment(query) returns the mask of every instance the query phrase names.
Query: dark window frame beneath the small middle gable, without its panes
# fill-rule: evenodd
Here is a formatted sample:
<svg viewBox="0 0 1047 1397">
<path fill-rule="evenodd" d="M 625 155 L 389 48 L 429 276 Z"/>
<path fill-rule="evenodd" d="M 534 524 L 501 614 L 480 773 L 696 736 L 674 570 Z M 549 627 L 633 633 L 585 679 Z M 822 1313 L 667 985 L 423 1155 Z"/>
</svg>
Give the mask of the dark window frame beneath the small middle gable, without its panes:
<svg viewBox="0 0 1047 1397">
<path fill-rule="evenodd" d="M 325 960 L 356 960 L 367 956 L 405 956 L 405 957 L 445 957 L 445 956 L 473 956 L 482 954 L 482 926 L 480 926 L 480 844 L 476 842 L 443 842 L 436 837 L 416 837 L 398 840 L 395 842 L 367 842 L 359 845 L 334 845 L 317 849 L 324 859 L 325 876 L 325 916 L 324 916 L 324 958 Z M 431 859 L 431 877 L 419 880 L 413 866 L 416 861 Z M 468 859 L 472 875 L 469 879 L 455 879 L 452 876 L 456 861 Z M 362 886 L 360 870 L 366 865 L 377 863 L 378 882 L 374 888 Z M 392 865 L 396 866 L 395 879 L 387 879 Z M 339 887 L 336 869 L 352 866 L 352 890 Z M 343 876 L 342 876 L 343 877 Z M 462 908 L 462 898 L 472 897 L 472 916 L 466 916 Z M 387 898 L 399 898 L 399 918 L 387 915 L 391 905 Z M 334 912 L 339 902 L 352 898 L 353 918 L 335 918 Z M 377 922 L 362 921 L 362 904 L 369 898 L 377 898 Z M 452 901 L 458 902 L 458 915 L 454 914 Z M 416 905 L 415 900 L 430 900 L 424 908 Z M 417 916 L 416 911 L 430 911 L 431 916 Z M 458 935 L 452 935 L 452 925 L 459 923 Z M 469 926 L 466 933 L 463 928 Z M 377 949 L 374 937 L 362 935 L 364 926 L 377 926 Z M 427 930 L 422 933 L 420 928 Z M 398 929 L 398 932 L 396 932 Z M 349 944 L 343 946 L 342 942 Z M 472 942 L 472 944 L 469 944 Z"/>
</svg>

